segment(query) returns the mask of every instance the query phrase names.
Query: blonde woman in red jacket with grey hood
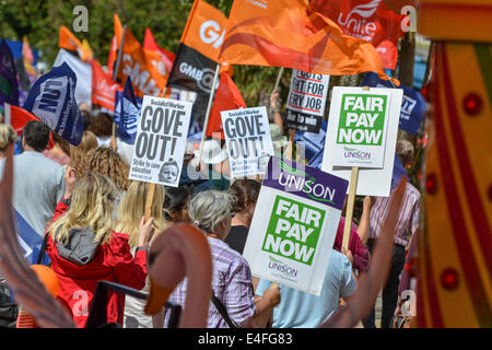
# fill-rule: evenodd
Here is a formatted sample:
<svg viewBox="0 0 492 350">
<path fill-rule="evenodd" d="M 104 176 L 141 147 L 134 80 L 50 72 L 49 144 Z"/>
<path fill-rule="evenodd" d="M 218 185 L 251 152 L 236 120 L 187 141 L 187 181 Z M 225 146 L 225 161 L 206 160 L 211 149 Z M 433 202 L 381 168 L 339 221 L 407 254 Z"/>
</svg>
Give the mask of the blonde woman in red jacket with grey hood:
<svg viewBox="0 0 492 350">
<path fill-rule="evenodd" d="M 141 218 L 138 247 L 130 253 L 128 234 L 113 230 L 117 190 L 101 174 L 87 173 L 77 180 L 72 167 L 65 175 L 66 194 L 47 229 L 47 253 L 60 281 L 59 296 L 84 327 L 99 280 L 142 289 L 147 278 L 147 253 L 153 233 L 152 218 Z M 107 322 L 122 325 L 125 295 L 109 292 Z"/>
</svg>

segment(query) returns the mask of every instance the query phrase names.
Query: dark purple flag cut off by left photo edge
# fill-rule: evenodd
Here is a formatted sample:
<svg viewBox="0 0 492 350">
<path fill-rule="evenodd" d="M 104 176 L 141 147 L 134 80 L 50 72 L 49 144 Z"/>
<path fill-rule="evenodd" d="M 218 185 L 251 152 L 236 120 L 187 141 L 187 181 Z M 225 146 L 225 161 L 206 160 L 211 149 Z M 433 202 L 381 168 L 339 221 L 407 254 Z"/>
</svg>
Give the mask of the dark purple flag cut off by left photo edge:
<svg viewBox="0 0 492 350">
<path fill-rule="evenodd" d="M 12 51 L 5 40 L 0 44 L 0 113 L 3 104 L 19 105 L 19 84 Z"/>
</svg>

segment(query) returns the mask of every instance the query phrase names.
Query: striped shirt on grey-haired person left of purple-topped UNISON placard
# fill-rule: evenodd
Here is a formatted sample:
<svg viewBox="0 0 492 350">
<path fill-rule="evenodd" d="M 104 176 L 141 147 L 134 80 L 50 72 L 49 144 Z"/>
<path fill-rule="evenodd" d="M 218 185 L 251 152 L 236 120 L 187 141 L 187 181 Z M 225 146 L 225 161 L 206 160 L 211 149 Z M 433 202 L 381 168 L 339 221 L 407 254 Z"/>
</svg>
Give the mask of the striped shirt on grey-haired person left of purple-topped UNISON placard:
<svg viewBox="0 0 492 350">
<path fill-rule="evenodd" d="M 227 310 L 229 317 L 236 326 L 244 324 L 255 313 L 251 271 L 246 259 L 226 243 L 207 237 L 212 253 L 212 289 L 215 296 Z M 185 304 L 187 278 L 179 283 L 169 301 Z M 203 291 L 206 293 L 207 291 Z M 167 327 L 167 316 L 165 319 Z M 229 328 L 219 311 L 210 302 L 208 328 Z"/>
</svg>

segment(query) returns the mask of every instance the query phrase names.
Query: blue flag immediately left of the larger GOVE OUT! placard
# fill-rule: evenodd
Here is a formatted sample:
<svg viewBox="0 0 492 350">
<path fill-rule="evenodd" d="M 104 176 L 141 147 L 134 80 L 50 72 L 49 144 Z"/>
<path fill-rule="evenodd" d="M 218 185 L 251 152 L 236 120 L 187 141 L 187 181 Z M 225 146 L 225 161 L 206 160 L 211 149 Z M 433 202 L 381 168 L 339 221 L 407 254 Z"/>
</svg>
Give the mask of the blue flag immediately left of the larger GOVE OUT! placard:
<svg viewBox="0 0 492 350">
<path fill-rule="evenodd" d="M 142 98 L 134 96 L 131 78 L 128 77 L 122 93 L 116 91 L 114 119 L 116 125 L 116 135 L 126 143 L 134 143 L 141 107 Z"/>
</svg>

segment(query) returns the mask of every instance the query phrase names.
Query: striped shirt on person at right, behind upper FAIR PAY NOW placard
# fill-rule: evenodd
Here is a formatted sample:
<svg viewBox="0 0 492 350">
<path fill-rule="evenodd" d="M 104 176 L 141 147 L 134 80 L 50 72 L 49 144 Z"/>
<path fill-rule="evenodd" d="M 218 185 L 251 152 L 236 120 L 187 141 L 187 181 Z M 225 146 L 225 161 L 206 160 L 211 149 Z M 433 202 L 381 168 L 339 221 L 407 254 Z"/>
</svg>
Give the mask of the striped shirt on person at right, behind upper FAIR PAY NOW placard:
<svg viewBox="0 0 492 350">
<path fill-rule="evenodd" d="M 379 236 L 380 229 L 388 214 L 391 197 L 376 197 L 376 201 L 371 208 L 370 238 L 377 238 Z M 408 246 L 410 237 L 419 226 L 419 213 L 420 192 L 413 185 L 407 183 L 395 231 L 395 244 L 402 245 L 403 247 Z"/>
</svg>

